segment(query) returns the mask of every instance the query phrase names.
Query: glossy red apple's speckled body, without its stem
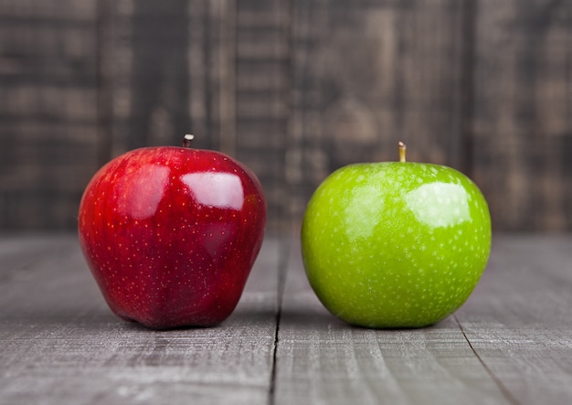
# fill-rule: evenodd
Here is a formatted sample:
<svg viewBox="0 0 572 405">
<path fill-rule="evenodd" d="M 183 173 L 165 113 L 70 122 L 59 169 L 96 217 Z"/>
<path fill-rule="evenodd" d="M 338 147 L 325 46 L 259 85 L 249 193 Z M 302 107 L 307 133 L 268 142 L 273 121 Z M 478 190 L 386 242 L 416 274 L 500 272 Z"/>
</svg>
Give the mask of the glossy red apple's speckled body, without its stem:
<svg viewBox="0 0 572 405">
<path fill-rule="evenodd" d="M 154 329 L 217 325 L 259 253 L 266 201 L 228 155 L 135 149 L 90 180 L 79 244 L 111 311 Z"/>
</svg>

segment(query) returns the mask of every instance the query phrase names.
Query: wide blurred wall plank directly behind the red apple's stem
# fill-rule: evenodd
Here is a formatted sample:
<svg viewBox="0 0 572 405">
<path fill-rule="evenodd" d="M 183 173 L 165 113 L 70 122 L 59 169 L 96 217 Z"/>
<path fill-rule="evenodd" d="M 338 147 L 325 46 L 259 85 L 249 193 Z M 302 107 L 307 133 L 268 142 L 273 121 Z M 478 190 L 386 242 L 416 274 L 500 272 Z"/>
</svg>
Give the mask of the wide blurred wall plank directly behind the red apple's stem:
<svg viewBox="0 0 572 405">
<path fill-rule="evenodd" d="M 269 229 L 287 220 L 288 4 L 120 0 L 98 9 L 100 155 L 195 133 L 196 147 L 237 157 L 260 177 Z"/>
</svg>

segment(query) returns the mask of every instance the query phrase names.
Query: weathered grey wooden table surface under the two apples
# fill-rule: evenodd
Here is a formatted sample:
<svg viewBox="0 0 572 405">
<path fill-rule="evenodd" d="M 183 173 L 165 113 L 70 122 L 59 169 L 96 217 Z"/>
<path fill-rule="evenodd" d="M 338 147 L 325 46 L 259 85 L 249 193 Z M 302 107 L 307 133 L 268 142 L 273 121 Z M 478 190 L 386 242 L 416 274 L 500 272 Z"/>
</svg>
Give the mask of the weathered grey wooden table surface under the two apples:
<svg viewBox="0 0 572 405">
<path fill-rule="evenodd" d="M 572 235 L 495 235 L 467 304 L 416 330 L 338 321 L 269 236 L 227 321 L 161 332 L 111 314 L 75 235 L 4 235 L 0 403 L 570 404 Z"/>
</svg>

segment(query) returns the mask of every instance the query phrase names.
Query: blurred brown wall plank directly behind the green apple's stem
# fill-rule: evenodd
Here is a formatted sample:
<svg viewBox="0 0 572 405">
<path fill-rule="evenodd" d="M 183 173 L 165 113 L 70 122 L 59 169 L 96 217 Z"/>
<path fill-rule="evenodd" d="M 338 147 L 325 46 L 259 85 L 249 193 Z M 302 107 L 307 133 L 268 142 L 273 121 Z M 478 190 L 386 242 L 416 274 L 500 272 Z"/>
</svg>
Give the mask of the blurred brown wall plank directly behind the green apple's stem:
<svg viewBox="0 0 572 405">
<path fill-rule="evenodd" d="M 341 165 L 409 160 L 458 165 L 466 2 L 293 3 L 287 180 L 300 220 Z M 461 156 L 461 157 L 460 157 Z"/>
</svg>

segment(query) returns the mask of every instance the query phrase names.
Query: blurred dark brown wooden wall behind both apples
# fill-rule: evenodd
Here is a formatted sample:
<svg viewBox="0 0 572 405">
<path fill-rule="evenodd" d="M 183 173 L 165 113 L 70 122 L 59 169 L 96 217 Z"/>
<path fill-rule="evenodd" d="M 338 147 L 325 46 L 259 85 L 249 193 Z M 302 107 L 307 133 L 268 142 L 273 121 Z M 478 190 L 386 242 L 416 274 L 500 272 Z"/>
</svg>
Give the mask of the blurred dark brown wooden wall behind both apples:
<svg viewBox="0 0 572 405">
<path fill-rule="evenodd" d="M 452 165 L 507 231 L 572 230 L 569 0 L 0 0 L 0 229 L 73 229 L 99 166 L 222 150 L 270 229 L 357 161 Z"/>
</svg>

